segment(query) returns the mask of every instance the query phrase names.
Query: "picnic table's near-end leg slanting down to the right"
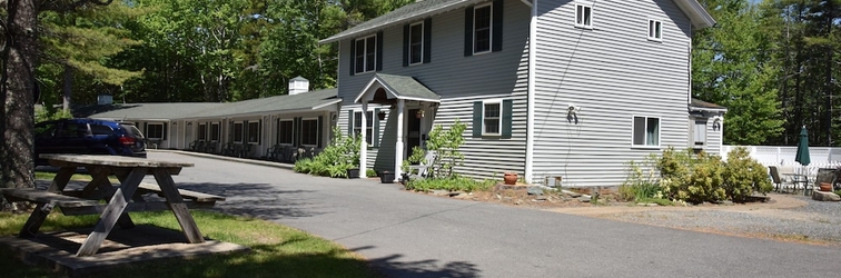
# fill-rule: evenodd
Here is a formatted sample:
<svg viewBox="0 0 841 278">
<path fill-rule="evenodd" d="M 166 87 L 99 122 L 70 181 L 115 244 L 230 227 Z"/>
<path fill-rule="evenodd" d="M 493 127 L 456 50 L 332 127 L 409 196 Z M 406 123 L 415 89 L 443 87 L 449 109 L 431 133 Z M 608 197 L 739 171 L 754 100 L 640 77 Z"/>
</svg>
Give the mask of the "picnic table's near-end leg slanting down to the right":
<svg viewBox="0 0 841 278">
<path fill-rule="evenodd" d="M 158 181 L 164 198 L 167 199 L 178 224 L 181 225 L 181 230 L 184 230 L 184 236 L 187 237 L 187 241 L 190 244 L 205 242 L 205 238 L 201 237 L 201 232 L 199 231 L 196 221 L 192 219 L 190 211 L 187 209 L 187 205 L 184 203 L 181 195 L 178 193 L 178 188 L 175 186 L 172 176 L 162 169 L 156 169 L 155 180 Z"/>
</svg>

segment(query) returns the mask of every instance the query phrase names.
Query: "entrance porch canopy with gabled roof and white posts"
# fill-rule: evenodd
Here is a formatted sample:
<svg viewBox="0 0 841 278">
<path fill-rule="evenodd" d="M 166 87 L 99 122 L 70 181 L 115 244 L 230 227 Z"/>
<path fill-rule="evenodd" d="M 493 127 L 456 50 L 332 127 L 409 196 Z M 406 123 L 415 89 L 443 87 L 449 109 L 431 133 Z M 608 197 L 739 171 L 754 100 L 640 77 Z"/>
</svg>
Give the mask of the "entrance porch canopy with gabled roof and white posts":
<svg viewBox="0 0 841 278">
<path fill-rule="evenodd" d="M 400 177 L 400 166 L 403 165 L 403 119 L 406 100 L 418 101 L 422 103 L 441 103 L 441 96 L 429 90 L 429 88 L 426 88 L 426 86 L 422 85 L 413 77 L 376 73 L 374 75 L 374 78 L 370 79 L 370 82 L 368 82 L 368 85 L 359 92 L 356 99 L 354 99 L 354 103 L 362 102 L 363 111 L 368 110 L 368 103 L 397 105 L 396 111 L 393 111 L 396 112 L 397 117 L 397 142 L 395 142 L 394 146 L 395 181 Z M 362 113 L 362 130 L 367 128 L 368 119 L 366 119 L 366 113 Z M 359 148 L 359 175 L 365 177 L 367 171 L 366 163 L 368 161 L 368 143 L 365 139 L 365 132 L 362 132 L 362 147 Z"/>
</svg>

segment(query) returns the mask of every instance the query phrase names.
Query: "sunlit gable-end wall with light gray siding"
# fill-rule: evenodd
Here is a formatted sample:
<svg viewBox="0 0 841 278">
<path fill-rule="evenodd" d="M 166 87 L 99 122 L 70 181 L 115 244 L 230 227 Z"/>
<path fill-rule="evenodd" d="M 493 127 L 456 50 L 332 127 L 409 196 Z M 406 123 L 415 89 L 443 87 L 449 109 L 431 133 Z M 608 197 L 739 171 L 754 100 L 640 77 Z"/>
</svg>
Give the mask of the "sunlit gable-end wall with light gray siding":
<svg viewBox="0 0 841 278">
<path fill-rule="evenodd" d="M 689 19 L 671 0 L 592 2 L 587 30 L 574 27 L 575 1 L 538 1 L 537 181 L 617 186 L 626 162 L 687 146 Z M 662 42 L 647 40 L 649 18 L 662 21 Z M 661 119 L 660 147 L 632 147 L 634 116 Z"/>
</svg>

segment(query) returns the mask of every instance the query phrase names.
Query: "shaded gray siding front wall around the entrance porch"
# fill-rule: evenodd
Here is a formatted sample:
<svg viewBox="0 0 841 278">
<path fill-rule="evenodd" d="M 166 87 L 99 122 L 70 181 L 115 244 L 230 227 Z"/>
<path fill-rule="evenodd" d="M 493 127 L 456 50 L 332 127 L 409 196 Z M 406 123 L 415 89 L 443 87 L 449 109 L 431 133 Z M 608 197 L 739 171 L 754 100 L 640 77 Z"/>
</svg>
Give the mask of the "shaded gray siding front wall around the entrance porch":
<svg viewBox="0 0 841 278">
<path fill-rule="evenodd" d="M 527 40 L 531 8 L 520 0 L 504 6 L 503 50 L 464 57 L 464 10 L 454 10 L 432 19 L 432 61 L 403 67 L 403 26 L 384 31 L 384 63 L 382 73 L 412 76 L 442 97 L 434 111 L 433 125 L 445 129 L 456 119 L 467 123 L 466 142 L 462 148 L 465 165 L 456 170 L 474 178 L 502 177 L 504 171 L 521 175 L 525 167 Z M 347 126 L 347 109 L 372 80 L 374 73 L 349 75 L 350 40 L 340 42 L 339 97 L 344 99 L 339 125 Z M 474 139 L 472 137 L 473 101 L 513 99 L 513 138 Z M 406 117 L 409 117 L 406 115 Z M 427 116 L 429 117 L 429 116 Z M 394 166 L 396 117 L 384 123 L 383 147 L 375 152 L 375 168 Z"/>
</svg>

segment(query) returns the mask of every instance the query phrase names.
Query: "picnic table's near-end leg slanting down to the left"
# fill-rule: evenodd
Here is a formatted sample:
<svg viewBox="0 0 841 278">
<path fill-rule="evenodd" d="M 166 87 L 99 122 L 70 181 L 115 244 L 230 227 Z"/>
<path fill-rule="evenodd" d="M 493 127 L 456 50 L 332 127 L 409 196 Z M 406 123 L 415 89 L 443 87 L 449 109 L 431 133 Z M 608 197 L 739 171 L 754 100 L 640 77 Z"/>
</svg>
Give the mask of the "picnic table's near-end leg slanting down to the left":
<svg viewBox="0 0 841 278">
<path fill-rule="evenodd" d="M 128 175 L 122 186 L 113 192 L 111 200 L 108 201 L 108 206 L 99 217 L 97 226 L 93 227 L 93 231 L 91 231 L 90 235 L 88 235 L 88 238 L 85 239 L 85 242 L 82 242 L 82 246 L 79 248 L 79 251 L 76 252 L 76 256 L 90 256 L 99 250 L 102 241 L 108 237 L 108 234 L 111 232 L 118 218 L 121 217 L 131 196 L 135 195 L 137 186 L 140 185 L 144 176 L 146 176 L 146 169 L 144 168 L 136 168 Z"/>
</svg>

